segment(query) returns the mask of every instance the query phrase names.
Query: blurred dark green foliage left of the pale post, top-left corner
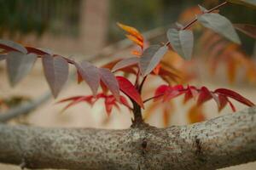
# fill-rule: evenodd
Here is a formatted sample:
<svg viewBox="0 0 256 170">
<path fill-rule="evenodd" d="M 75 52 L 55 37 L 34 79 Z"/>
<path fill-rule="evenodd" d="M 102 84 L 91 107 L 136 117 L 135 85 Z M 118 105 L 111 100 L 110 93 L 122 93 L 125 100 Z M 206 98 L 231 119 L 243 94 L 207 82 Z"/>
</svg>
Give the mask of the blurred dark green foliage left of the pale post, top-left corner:
<svg viewBox="0 0 256 170">
<path fill-rule="evenodd" d="M 0 36 L 77 31 L 80 0 L 0 0 Z M 75 31 L 74 31 L 75 30 Z"/>
</svg>

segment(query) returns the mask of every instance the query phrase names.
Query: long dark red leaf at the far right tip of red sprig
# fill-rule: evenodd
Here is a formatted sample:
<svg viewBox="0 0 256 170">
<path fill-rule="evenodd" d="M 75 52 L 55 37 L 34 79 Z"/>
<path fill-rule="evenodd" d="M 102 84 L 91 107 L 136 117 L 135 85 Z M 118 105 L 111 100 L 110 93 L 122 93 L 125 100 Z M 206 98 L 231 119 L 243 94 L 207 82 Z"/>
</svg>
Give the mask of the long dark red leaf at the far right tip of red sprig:
<svg viewBox="0 0 256 170">
<path fill-rule="evenodd" d="M 218 88 L 214 91 L 214 93 L 223 94 L 226 97 L 236 99 L 236 101 L 239 101 L 240 103 L 247 105 L 247 106 L 254 106 L 253 102 L 251 102 L 249 99 L 242 97 L 240 94 L 237 94 L 236 92 L 234 92 L 230 89 Z"/>
</svg>

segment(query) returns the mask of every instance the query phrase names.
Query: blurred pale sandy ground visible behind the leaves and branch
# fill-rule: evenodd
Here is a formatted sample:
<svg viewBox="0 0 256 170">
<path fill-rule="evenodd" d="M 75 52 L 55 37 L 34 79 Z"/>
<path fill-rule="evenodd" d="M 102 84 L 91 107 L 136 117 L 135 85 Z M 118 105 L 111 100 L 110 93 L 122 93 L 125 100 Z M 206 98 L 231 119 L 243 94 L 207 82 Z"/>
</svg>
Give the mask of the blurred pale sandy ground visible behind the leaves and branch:
<svg viewBox="0 0 256 170">
<path fill-rule="evenodd" d="M 0 63 L 0 97 L 9 97 L 10 95 L 25 95 L 27 97 L 36 98 L 39 95 L 44 94 L 47 91 L 48 85 L 44 80 L 43 71 L 41 64 L 38 62 L 33 69 L 32 73 L 26 77 L 20 84 L 15 88 L 10 88 L 5 69 L 4 63 Z M 150 85 L 159 81 L 152 81 L 149 79 Z M 206 83 L 206 86 L 215 89 L 217 85 L 212 83 Z M 225 87 L 226 88 L 226 87 Z M 243 94 L 248 99 L 255 100 L 256 90 L 253 88 L 237 88 L 231 87 L 238 93 Z M 150 89 L 150 87 L 148 87 Z M 255 89 L 255 88 L 254 88 Z M 145 89 L 147 91 L 147 89 Z M 121 107 L 121 112 L 113 111 L 112 115 L 108 118 L 102 107 L 102 101 L 98 102 L 95 106 L 90 108 L 89 105 L 80 104 L 73 108 L 68 109 L 64 113 L 60 113 L 64 105 L 55 105 L 58 99 L 63 99 L 73 95 L 90 94 L 90 90 L 84 83 L 77 85 L 73 77 L 70 77 L 69 85 L 64 88 L 57 99 L 50 99 L 46 104 L 40 106 L 37 111 L 26 117 L 26 122 L 32 124 L 33 126 L 40 127 L 102 127 L 102 128 L 127 128 L 131 125 L 131 114 L 126 111 L 124 107 Z M 148 94 L 149 96 L 149 94 Z M 178 100 L 178 99 L 177 99 Z M 181 100 L 181 99 L 179 99 Z M 186 124 L 186 110 L 188 106 L 183 106 L 180 102 L 176 102 L 175 114 L 172 116 L 172 124 L 182 125 Z M 212 118 L 218 116 L 216 109 L 216 104 L 213 102 L 208 102 L 206 105 L 207 118 Z M 235 102 L 236 105 L 236 102 Z M 246 106 L 237 104 L 237 110 L 245 108 Z M 213 109 L 214 108 L 214 109 Z M 230 108 L 225 108 L 224 113 L 230 113 Z M 162 127 L 162 120 L 160 114 L 154 114 L 150 117 L 148 122 L 154 126 Z M 1 153 L 0 153 L 1 154 Z M 2 170 L 18 170 L 20 167 L 9 166 L 0 164 L 0 169 Z M 248 163 L 241 166 L 225 168 L 227 170 L 254 170 L 256 169 L 256 163 Z"/>
</svg>

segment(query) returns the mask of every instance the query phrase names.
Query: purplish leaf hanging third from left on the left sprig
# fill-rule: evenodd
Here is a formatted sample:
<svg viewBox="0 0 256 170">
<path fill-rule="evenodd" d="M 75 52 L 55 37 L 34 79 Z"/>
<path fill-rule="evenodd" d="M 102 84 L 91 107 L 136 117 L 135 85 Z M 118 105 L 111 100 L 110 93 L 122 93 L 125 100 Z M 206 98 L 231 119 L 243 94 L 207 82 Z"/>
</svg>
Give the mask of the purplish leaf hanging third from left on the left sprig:
<svg viewBox="0 0 256 170">
<path fill-rule="evenodd" d="M 88 61 L 84 60 L 80 64 L 75 65 L 84 81 L 89 85 L 92 94 L 96 96 L 97 89 L 100 85 L 100 75 L 98 68 L 91 65 Z"/>
</svg>

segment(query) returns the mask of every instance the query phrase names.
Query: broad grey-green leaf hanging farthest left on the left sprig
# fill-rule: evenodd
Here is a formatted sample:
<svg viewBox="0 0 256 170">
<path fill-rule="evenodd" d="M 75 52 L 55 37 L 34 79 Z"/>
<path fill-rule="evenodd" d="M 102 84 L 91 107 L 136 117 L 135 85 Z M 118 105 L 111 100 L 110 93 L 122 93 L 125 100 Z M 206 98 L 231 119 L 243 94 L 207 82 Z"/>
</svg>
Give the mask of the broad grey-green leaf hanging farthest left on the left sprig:
<svg viewBox="0 0 256 170">
<path fill-rule="evenodd" d="M 12 51 L 6 56 L 7 71 L 11 86 L 15 86 L 17 82 L 32 70 L 32 66 L 37 59 L 36 54 L 22 54 Z"/>
</svg>

